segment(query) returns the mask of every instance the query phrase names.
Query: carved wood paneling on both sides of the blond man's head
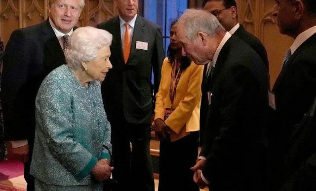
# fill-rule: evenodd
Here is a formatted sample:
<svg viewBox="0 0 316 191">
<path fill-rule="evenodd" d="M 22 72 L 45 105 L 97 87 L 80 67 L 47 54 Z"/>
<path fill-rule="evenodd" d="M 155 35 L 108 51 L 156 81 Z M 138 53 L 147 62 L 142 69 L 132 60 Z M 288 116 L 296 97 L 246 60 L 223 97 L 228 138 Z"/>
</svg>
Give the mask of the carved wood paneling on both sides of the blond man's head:
<svg viewBox="0 0 316 191">
<path fill-rule="evenodd" d="M 118 14 L 113 0 L 85 0 L 85 5 L 78 27 L 95 27 Z M 0 36 L 4 45 L 15 29 L 40 23 L 48 14 L 48 0 L 0 0 Z"/>
</svg>

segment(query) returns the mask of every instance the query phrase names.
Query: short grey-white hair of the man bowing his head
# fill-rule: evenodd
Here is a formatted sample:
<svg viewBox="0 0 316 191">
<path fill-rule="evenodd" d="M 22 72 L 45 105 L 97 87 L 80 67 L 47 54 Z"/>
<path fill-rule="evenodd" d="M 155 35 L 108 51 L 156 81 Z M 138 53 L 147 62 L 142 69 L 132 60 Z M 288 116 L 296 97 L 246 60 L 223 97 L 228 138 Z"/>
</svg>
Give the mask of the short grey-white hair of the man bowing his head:
<svg viewBox="0 0 316 191">
<path fill-rule="evenodd" d="M 187 9 L 179 18 L 178 23 L 183 26 L 186 36 L 192 41 L 197 38 L 198 32 L 204 32 L 210 36 L 225 32 L 217 18 L 202 9 Z"/>
</svg>

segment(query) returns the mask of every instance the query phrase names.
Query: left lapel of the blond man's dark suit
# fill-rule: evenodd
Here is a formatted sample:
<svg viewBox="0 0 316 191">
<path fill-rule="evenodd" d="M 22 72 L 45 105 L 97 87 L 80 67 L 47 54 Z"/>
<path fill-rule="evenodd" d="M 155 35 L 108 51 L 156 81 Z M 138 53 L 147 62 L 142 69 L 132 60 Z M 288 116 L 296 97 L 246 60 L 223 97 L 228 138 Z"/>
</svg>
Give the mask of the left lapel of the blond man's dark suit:
<svg viewBox="0 0 316 191">
<path fill-rule="evenodd" d="M 42 25 L 42 40 L 51 54 L 51 58 L 55 60 L 56 66 L 59 66 L 61 63 L 65 62 L 64 52 L 59 44 L 59 41 L 56 37 L 53 28 L 49 24 L 47 19 Z M 55 67 L 54 67 L 55 68 Z"/>
</svg>

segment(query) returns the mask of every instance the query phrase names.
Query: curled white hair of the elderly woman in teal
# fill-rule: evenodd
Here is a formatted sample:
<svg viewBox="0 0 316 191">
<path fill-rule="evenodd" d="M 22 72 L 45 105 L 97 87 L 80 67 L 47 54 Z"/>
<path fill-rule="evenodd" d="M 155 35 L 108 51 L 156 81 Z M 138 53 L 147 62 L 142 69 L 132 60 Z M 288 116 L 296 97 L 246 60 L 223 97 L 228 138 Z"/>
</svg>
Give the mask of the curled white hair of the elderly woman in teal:
<svg viewBox="0 0 316 191">
<path fill-rule="evenodd" d="M 94 27 L 81 27 L 75 30 L 68 38 L 66 63 L 71 68 L 82 68 L 83 62 L 93 61 L 98 51 L 112 43 L 112 34 Z"/>
</svg>

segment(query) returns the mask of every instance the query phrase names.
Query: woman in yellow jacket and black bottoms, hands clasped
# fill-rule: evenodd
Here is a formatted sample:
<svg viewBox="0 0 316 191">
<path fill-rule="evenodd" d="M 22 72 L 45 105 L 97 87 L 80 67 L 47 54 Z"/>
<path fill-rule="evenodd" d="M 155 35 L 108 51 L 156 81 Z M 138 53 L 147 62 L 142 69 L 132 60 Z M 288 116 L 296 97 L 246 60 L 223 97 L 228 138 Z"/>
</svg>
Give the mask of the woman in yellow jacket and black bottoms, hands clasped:
<svg viewBox="0 0 316 191">
<path fill-rule="evenodd" d="M 160 138 L 158 191 L 199 191 L 190 167 L 197 159 L 203 66 L 182 56 L 176 27 L 174 21 L 156 95 L 153 127 Z"/>
</svg>

